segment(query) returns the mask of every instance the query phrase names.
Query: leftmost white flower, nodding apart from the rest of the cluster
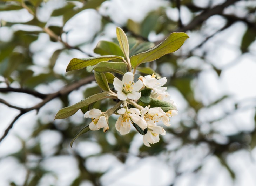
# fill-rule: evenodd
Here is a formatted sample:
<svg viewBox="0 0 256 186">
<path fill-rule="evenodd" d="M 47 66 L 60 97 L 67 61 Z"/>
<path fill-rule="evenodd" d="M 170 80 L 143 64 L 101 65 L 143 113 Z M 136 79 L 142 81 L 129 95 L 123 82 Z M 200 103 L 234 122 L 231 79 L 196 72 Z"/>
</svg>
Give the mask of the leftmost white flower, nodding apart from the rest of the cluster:
<svg viewBox="0 0 256 186">
<path fill-rule="evenodd" d="M 85 118 L 86 117 L 92 118 L 92 122 L 89 124 L 91 130 L 103 128 L 103 131 L 106 132 L 109 129 L 107 119 L 99 109 L 93 108 L 87 111 L 85 113 Z"/>
</svg>

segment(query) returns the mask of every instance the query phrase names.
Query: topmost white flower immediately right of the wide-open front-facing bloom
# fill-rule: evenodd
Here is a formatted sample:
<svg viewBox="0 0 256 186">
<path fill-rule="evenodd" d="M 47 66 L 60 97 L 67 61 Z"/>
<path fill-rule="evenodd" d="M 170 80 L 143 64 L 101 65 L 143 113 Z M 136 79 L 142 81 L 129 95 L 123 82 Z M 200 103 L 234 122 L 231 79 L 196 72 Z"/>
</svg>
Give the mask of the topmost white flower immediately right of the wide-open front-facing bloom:
<svg viewBox="0 0 256 186">
<path fill-rule="evenodd" d="M 166 84 L 166 77 L 163 77 L 161 79 L 158 79 L 156 78 L 155 74 L 152 74 L 151 75 L 148 75 L 148 76 L 140 76 L 139 79 L 143 82 L 143 84 L 147 87 L 147 88 L 150 88 L 150 89 L 167 89 L 166 87 L 161 87 L 163 86 L 164 84 Z M 160 88 L 161 87 L 161 88 Z M 163 90 L 163 91 L 165 91 Z"/>
</svg>

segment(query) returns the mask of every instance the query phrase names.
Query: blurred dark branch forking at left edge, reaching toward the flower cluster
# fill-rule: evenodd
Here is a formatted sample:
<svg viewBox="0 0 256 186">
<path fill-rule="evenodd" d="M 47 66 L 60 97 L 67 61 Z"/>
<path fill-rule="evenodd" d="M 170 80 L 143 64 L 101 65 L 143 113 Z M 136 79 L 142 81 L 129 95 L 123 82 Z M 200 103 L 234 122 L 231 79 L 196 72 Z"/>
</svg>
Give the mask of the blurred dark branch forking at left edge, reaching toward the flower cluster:
<svg viewBox="0 0 256 186">
<path fill-rule="evenodd" d="M 90 82 L 92 82 L 94 80 L 94 76 L 89 76 L 89 77 L 86 77 L 84 79 L 81 79 L 79 81 L 76 81 L 75 83 L 72 83 L 70 85 L 67 85 L 65 87 L 63 87 L 61 90 L 55 92 L 55 93 L 52 93 L 52 94 L 46 94 L 46 97 L 42 100 L 42 102 L 38 103 L 37 105 L 33 106 L 33 107 L 30 107 L 30 108 L 20 108 L 20 107 L 16 107 L 16 106 L 13 106 L 9 103 L 7 103 L 6 101 L 0 99 L 0 102 L 11 107 L 11 108 L 15 108 L 15 109 L 18 109 L 20 110 L 20 114 L 17 115 L 14 120 L 11 122 L 11 124 L 9 124 L 9 126 L 7 127 L 7 129 L 5 130 L 3 136 L 0 138 L 0 142 L 7 136 L 7 134 L 9 133 L 9 131 L 11 130 L 11 128 L 13 127 L 13 124 L 19 119 L 20 116 L 22 116 L 23 114 L 29 112 L 29 111 L 32 111 L 32 110 L 37 110 L 39 111 L 39 109 L 44 106 L 46 103 L 48 103 L 49 101 L 53 100 L 54 98 L 58 98 L 60 96 L 63 96 L 63 95 L 67 95 L 69 94 L 70 92 L 78 89 L 79 87 L 85 85 L 85 84 L 88 84 Z"/>
</svg>

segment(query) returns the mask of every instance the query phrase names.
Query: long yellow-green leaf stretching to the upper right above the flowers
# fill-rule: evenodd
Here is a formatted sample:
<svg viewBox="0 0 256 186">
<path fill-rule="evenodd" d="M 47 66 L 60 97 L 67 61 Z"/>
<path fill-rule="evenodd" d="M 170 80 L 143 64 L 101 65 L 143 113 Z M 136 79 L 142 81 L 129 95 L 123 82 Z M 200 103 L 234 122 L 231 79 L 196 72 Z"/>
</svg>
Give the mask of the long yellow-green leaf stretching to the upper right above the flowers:
<svg viewBox="0 0 256 186">
<path fill-rule="evenodd" d="M 162 43 L 155 46 L 154 48 L 146 52 L 138 53 L 132 56 L 131 57 L 132 67 L 136 68 L 141 63 L 150 62 L 160 58 L 163 55 L 175 52 L 182 46 L 182 44 L 187 38 L 189 38 L 188 35 L 183 32 L 171 33 Z"/>
</svg>

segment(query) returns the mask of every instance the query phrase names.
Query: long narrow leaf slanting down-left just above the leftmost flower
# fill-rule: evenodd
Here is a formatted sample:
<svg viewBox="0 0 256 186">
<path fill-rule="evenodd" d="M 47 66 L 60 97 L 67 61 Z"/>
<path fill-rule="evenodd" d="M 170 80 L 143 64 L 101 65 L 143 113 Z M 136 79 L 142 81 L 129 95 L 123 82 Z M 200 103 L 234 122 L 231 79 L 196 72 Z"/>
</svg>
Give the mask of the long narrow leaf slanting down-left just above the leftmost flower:
<svg viewBox="0 0 256 186">
<path fill-rule="evenodd" d="M 63 118 L 67 118 L 69 116 L 72 116 L 73 114 L 75 114 L 80 108 L 89 105 L 95 101 L 98 100 L 102 100 L 104 98 L 108 98 L 108 95 L 106 92 L 102 92 L 99 94 L 95 94 L 92 95 L 86 99 L 83 99 L 81 101 L 79 101 L 78 103 L 76 103 L 75 105 L 69 106 L 69 107 L 65 107 L 62 108 L 61 110 L 58 111 L 58 113 L 55 116 L 55 119 L 63 119 Z"/>
</svg>

